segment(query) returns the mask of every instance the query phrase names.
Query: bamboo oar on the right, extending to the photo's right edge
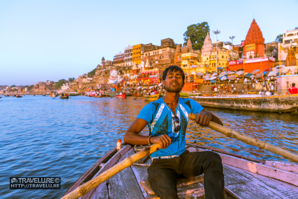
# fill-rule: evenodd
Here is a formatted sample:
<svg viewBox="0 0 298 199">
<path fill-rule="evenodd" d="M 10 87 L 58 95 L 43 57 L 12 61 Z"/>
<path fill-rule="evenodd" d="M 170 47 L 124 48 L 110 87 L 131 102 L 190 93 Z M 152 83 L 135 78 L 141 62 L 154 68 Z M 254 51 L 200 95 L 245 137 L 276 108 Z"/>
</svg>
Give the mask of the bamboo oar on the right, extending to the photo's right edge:
<svg viewBox="0 0 298 199">
<path fill-rule="evenodd" d="M 192 120 L 195 120 L 196 118 L 196 115 L 193 114 L 193 113 L 190 113 L 188 115 L 188 117 Z M 290 160 L 293 160 L 295 162 L 298 162 L 298 155 L 294 154 L 294 153 L 291 153 L 285 149 L 282 149 L 280 147 L 277 147 L 277 146 L 274 146 L 272 144 L 269 144 L 268 142 L 265 142 L 265 141 L 261 141 L 261 140 L 258 140 L 256 138 L 252 138 L 252 137 L 249 137 L 247 135 L 243 135 L 242 133 L 240 132 L 237 132 L 233 129 L 230 129 L 230 128 L 227 128 L 227 127 L 224 127 L 224 126 L 221 126 L 220 124 L 217 124 L 213 121 L 210 121 L 208 127 L 210 129 L 213 129 L 215 131 L 218 131 L 230 138 L 235 138 L 237 140 L 240 140 L 240 141 L 243 141 L 247 144 L 251 144 L 251 145 L 254 145 L 254 146 L 257 146 L 257 147 L 260 147 L 261 149 L 265 149 L 265 150 L 268 150 L 268 151 L 271 151 L 273 153 L 276 153 L 278 155 L 281 155 L 283 156 L 284 158 L 288 158 Z"/>
</svg>

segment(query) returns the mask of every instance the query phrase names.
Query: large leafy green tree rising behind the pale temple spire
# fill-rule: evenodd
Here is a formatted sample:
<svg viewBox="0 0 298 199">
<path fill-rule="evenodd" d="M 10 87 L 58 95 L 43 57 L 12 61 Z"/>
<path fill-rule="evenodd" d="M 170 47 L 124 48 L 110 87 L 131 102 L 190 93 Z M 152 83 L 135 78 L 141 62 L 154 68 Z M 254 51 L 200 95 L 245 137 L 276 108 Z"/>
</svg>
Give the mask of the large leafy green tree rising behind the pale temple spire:
<svg viewBox="0 0 298 199">
<path fill-rule="evenodd" d="M 186 32 L 183 34 L 184 36 L 184 44 L 187 44 L 188 37 L 190 37 L 190 41 L 193 45 L 193 50 L 201 50 L 204 39 L 209 33 L 209 25 L 207 22 L 192 24 L 187 27 Z"/>
</svg>

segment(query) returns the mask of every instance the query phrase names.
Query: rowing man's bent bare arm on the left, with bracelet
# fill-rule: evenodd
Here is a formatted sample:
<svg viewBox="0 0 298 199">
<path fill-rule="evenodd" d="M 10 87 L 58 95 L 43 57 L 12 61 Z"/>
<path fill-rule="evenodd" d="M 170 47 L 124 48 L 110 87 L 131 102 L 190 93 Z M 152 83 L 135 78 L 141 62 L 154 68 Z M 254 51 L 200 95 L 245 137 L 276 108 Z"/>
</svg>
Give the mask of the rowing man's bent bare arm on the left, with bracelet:
<svg viewBox="0 0 298 199">
<path fill-rule="evenodd" d="M 125 132 L 124 142 L 137 145 L 149 144 L 149 136 L 143 136 L 138 134 L 146 127 L 147 124 L 148 122 L 146 120 L 136 118 L 136 120 L 133 123 L 131 123 L 131 125 Z M 164 149 L 172 143 L 172 140 L 168 135 L 164 134 L 156 137 L 152 136 L 150 138 L 150 142 L 152 144 L 159 143 Z"/>
</svg>

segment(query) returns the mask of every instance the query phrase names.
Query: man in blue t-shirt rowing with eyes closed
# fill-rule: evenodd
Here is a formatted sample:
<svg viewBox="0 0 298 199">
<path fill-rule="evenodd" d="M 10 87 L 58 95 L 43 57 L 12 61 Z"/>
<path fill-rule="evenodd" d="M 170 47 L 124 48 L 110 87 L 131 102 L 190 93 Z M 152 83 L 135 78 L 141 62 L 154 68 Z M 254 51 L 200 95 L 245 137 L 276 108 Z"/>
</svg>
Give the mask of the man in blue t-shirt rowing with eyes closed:
<svg viewBox="0 0 298 199">
<path fill-rule="evenodd" d="M 150 102 L 140 111 L 124 135 L 125 143 L 146 145 L 159 143 L 162 149 L 151 154 L 148 181 L 160 198 L 178 198 L 176 179 L 204 173 L 206 198 L 224 198 L 224 174 L 221 157 L 211 151 L 189 152 L 185 149 L 188 114 L 197 115 L 196 123 L 202 127 L 210 121 L 222 125 L 211 112 L 189 98 L 179 98 L 184 86 L 184 72 L 178 66 L 167 67 L 162 74 L 166 90 L 163 98 Z M 149 136 L 142 136 L 145 126 Z"/>
</svg>

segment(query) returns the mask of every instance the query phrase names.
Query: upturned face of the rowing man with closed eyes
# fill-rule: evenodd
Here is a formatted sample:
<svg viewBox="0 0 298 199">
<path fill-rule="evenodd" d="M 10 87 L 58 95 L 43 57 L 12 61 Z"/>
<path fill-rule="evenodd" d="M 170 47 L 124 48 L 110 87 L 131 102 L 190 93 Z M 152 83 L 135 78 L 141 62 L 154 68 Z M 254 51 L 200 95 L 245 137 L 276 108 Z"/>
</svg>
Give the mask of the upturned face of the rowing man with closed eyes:
<svg viewBox="0 0 298 199">
<path fill-rule="evenodd" d="M 180 92 L 184 86 L 182 75 L 179 70 L 168 72 L 166 79 L 162 81 L 165 90 L 170 92 Z"/>
</svg>

